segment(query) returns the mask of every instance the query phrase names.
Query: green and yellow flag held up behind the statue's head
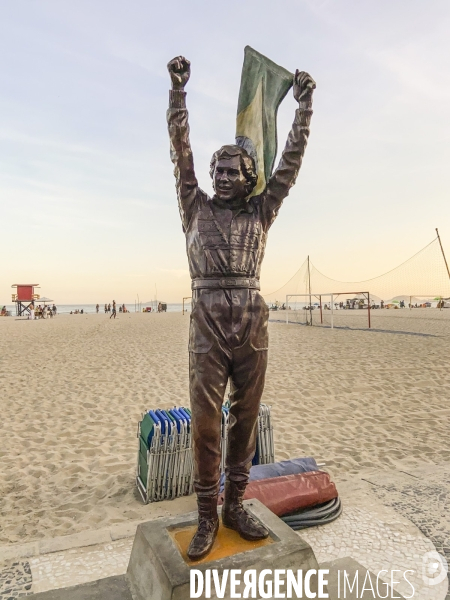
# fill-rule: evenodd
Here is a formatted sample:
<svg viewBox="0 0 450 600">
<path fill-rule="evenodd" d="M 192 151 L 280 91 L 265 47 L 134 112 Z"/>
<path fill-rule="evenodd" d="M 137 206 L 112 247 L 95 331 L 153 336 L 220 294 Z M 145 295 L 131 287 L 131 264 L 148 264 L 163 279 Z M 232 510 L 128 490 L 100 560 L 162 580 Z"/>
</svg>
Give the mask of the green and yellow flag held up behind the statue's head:
<svg viewBox="0 0 450 600">
<path fill-rule="evenodd" d="M 236 144 L 255 159 L 260 194 L 272 174 L 277 154 L 277 112 L 294 75 L 250 46 L 245 47 L 236 120 Z"/>
</svg>

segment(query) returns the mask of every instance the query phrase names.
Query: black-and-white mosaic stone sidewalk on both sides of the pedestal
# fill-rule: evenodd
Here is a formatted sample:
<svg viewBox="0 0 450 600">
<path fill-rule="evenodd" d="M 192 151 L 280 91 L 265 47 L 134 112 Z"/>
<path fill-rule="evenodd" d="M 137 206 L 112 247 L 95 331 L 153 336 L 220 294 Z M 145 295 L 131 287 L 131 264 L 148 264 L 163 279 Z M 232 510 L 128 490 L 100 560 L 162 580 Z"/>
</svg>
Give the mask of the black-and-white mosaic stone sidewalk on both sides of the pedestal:
<svg viewBox="0 0 450 600">
<path fill-rule="evenodd" d="M 414 598 L 448 599 L 447 580 L 432 586 L 424 583 L 422 561 L 435 548 L 450 558 L 450 465 L 426 467 L 414 475 L 378 471 L 337 484 L 344 505 L 342 516 L 329 525 L 300 532 L 319 563 L 351 557 L 373 573 L 412 569 Z M 35 546 L 44 550 L 40 553 L 33 554 L 30 545 L 24 546 L 25 556 L 0 562 L 0 600 L 124 574 L 136 524 L 123 525 L 120 536 L 104 530 L 87 532 L 90 545 L 85 546 L 80 545 L 80 536 L 41 543 Z M 76 547 L 70 547 L 70 538 L 76 538 Z M 0 561 L 1 556 L 0 552 Z M 411 594 L 404 581 L 394 587 L 405 597 Z"/>
</svg>

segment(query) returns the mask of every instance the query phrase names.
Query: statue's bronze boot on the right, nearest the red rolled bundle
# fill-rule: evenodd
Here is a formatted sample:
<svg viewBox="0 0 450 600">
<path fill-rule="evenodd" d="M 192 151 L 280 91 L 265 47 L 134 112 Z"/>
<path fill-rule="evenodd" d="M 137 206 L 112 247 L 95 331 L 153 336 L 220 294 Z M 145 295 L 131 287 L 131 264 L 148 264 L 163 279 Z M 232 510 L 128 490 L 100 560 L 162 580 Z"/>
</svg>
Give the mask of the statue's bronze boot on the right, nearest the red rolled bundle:
<svg viewBox="0 0 450 600">
<path fill-rule="evenodd" d="M 226 481 L 225 499 L 222 507 L 222 523 L 234 529 L 244 540 L 263 540 L 269 536 L 267 529 L 246 512 L 242 506 L 246 481 Z"/>
</svg>

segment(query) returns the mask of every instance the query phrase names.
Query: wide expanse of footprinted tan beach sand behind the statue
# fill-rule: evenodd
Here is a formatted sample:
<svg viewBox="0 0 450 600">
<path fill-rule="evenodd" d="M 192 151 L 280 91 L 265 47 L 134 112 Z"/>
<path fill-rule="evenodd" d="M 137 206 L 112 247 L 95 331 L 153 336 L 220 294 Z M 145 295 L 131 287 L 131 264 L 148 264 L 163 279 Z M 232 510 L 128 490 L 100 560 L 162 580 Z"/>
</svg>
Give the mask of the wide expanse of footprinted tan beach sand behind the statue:
<svg viewBox="0 0 450 600">
<path fill-rule="evenodd" d="M 189 403 L 188 326 L 181 313 L 0 319 L 0 544 L 194 508 L 144 506 L 134 485 L 141 412 Z M 450 460 L 450 310 L 390 311 L 376 329 L 270 323 L 277 460 L 315 456 L 337 481 Z"/>
</svg>

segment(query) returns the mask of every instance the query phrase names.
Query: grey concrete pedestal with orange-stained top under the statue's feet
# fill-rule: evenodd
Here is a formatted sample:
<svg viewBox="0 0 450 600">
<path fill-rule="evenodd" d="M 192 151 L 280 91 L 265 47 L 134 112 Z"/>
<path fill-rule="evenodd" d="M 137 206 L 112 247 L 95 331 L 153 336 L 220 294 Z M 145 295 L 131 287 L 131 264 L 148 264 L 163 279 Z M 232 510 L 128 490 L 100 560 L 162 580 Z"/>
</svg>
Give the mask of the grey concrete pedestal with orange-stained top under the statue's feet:
<svg viewBox="0 0 450 600">
<path fill-rule="evenodd" d="M 229 537 L 229 530 L 220 530 L 211 554 L 202 561 L 190 562 L 186 556 L 187 545 L 195 531 L 197 513 L 179 517 L 160 519 L 139 525 L 131 552 L 127 571 L 127 581 L 134 600 L 186 600 L 191 598 L 191 570 L 200 572 L 200 578 L 208 579 L 210 570 L 211 594 L 205 588 L 199 598 L 231 599 L 231 569 L 240 570 L 236 578 L 240 586 L 235 591 L 242 593 L 245 587 L 244 571 L 254 569 L 256 579 L 264 569 L 270 569 L 268 579 L 273 579 L 275 569 L 292 569 L 303 574 L 309 569 L 318 569 L 311 547 L 290 527 L 270 512 L 257 500 L 244 503 L 246 509 L 262 522 L 270 532 L 268 540 L 246 542 Z M 222 529 L 222 527 L 221 527 Z M 226 543 L 224 537 L 227 536 Z M 213 570 L 217 570 L 220 583 L 222 575 L 228 569 L 225 593 L 216 593 Z M 197 588 L 196 588 L 197 589 Z M 317 578 L 311 579 L 311 592 L 317 592 Z M 258 597 L 260 595 L 258 594 Z"/>
</svg>

